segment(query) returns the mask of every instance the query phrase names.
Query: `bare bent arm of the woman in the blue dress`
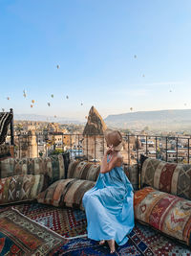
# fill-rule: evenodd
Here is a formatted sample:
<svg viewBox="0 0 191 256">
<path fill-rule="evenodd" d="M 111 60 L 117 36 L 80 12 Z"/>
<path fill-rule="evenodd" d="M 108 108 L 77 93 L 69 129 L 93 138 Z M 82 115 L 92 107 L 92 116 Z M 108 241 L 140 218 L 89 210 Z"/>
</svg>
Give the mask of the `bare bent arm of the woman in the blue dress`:
<svg viewBox="0 0 191 256">
<path fill-rule="evenodd" d="M 121 166 L 122 158 L 118 155 L 114 155 L 110 162 L 107 162 L 108 151 L 103 156 L 103 160 L 100 167 L 100 173 L 106 174 L 109 173 L 116 166 Z"/>
</svg>

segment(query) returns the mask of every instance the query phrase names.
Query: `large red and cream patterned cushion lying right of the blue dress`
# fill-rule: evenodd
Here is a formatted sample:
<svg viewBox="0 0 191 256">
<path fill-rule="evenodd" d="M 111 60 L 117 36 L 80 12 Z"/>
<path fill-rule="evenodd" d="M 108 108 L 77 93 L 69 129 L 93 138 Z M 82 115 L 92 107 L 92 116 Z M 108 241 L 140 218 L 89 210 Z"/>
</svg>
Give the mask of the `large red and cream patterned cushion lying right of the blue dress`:
<svg viewBox="0 0 191 256">
<path fill-rule="evenodd" d="M 151 187 L 135 193 L 134 211 L 138 221 L 191 245 L 191 201 Z"/>
</svg>

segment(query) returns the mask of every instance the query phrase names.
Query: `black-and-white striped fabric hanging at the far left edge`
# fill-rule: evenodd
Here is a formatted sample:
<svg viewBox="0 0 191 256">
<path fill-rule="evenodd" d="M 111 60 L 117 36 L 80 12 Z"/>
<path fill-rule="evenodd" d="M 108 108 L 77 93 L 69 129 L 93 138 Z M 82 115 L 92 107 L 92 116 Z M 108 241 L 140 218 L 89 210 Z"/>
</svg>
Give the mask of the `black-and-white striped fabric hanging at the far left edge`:
<svg viewBox="0 0 191 256">
<path fill-rule="evenodd" d="M 10 112 L 0 112 L 0 145 L 6 141 L 8 127 L 11 123 L 13 114 Z"/>
</svg>

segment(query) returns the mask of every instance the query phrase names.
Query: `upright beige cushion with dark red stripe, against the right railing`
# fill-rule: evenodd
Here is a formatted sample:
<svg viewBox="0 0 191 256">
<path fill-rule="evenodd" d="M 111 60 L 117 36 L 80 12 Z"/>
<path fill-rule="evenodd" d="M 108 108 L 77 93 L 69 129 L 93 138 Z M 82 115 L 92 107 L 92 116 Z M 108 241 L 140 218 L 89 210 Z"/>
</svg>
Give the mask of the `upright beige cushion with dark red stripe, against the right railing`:
<svg viewBox="0 0 191 256">
<path fill-rule="evenodd" d="M 191 165 L 148 158 L 142 165 L 141 184 L 191 199 Z"/>
</svg>

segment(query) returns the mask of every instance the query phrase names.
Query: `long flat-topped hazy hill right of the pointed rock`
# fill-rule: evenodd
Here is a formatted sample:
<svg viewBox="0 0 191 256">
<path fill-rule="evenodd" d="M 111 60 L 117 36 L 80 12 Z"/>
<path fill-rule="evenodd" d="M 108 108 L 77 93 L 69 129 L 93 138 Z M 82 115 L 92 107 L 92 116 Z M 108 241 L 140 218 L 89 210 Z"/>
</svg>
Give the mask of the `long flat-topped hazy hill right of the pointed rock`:
<svg viewBox="0 0 191 256">
<path fill-rule="evenodd" d="M 191 109 L 138 111 L 109 115 L 104 121 L 116 128 L 191 129 Z"/>
</svg>

